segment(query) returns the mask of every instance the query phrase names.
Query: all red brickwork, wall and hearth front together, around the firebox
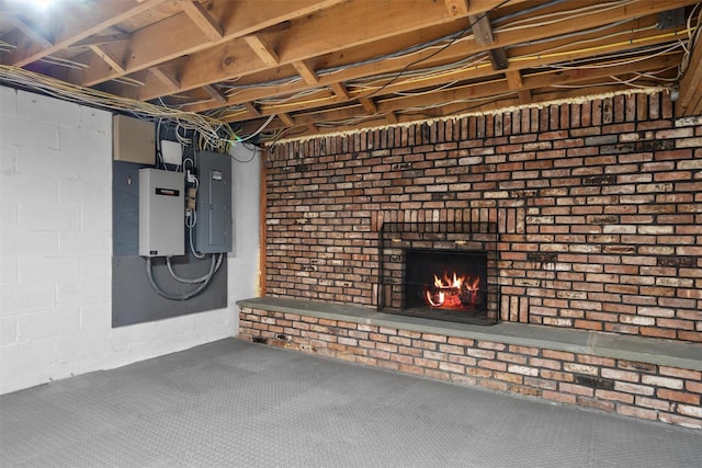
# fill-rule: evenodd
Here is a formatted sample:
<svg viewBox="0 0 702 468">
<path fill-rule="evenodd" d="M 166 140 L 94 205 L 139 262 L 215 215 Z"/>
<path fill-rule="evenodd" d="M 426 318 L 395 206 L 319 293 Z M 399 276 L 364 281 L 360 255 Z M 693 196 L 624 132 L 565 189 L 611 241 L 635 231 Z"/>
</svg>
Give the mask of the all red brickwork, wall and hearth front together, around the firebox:
<svg viewBox="0 0 702 468">
<path fill-rule="evenodd" d="M 524 324 L 689 358 L 256 305 L 242 306 L 242 338 L 702 426 L 702 117 L 675 118 L 668 94 L 278 145 L 265 198 L 268 297 L 401 309 L 394 286 L 407 272 L 387 273 L 393 262 L 434 248 L 484 252 L 486 316 L 500 321 L 486 329 Z M 411 226 L 444 231 L 429 246 L 403 237 Z"/>
</svg>

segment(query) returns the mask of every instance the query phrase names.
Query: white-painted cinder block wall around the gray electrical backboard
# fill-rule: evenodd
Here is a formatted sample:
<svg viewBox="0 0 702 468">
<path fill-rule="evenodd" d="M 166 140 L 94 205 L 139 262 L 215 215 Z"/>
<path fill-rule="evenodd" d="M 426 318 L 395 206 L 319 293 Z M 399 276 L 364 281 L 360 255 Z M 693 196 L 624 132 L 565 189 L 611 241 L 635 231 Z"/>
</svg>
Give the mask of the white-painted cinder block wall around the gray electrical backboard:
<svg viewBox="0 0 702 468">
<path fill-rule="evenodd" d="M 260 157 L 233 162 L 226 309 L 111 328 L 112 116 L 0 87 L 0 393 L 238 332 L 258 293 Z"/>
</svg>

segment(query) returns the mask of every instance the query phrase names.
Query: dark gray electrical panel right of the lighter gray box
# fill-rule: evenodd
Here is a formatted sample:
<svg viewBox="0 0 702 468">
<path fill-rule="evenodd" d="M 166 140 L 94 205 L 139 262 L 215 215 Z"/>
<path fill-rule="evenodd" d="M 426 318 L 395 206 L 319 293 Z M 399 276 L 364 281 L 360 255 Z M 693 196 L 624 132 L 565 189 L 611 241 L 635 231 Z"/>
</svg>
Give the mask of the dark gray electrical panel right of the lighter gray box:
<svg viewBox="0 0 702 468">
<path fill-rule="evenodd" d="M 214 152 L 199 152 L 195 159 L 200 178 L 195 250 L 231 252 L 231 160 Z"/>
</svg>

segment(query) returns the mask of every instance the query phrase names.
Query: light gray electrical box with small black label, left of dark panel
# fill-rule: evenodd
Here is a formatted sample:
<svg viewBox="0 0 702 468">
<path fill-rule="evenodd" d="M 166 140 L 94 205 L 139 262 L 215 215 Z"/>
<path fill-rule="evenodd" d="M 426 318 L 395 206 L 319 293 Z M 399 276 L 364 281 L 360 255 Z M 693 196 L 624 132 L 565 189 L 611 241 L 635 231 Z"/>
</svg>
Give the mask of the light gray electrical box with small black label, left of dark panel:
<svg viewBox="0 0 702 468">
<path fill-rule="evenodd" d="M 139 255 L 185 254 L 182 172 L 139 170 Z"/>
</svg>

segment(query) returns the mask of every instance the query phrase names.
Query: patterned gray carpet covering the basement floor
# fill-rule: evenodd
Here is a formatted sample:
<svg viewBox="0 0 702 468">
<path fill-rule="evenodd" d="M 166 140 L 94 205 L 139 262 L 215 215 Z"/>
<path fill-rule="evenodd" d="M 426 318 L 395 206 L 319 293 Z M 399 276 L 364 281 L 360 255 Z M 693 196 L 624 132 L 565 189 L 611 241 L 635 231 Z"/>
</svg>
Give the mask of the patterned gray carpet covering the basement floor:
<svg viewBox="0 0 702 468">
<path fill-rule="evenodd" d="M 2 467 L 699 467 L 702 431 L 230 339 L 0 397 Z"/>
</svg>

